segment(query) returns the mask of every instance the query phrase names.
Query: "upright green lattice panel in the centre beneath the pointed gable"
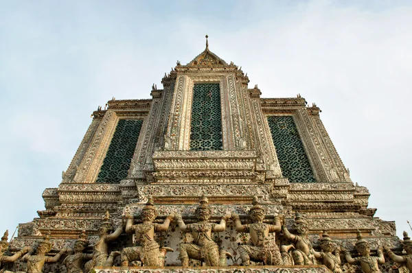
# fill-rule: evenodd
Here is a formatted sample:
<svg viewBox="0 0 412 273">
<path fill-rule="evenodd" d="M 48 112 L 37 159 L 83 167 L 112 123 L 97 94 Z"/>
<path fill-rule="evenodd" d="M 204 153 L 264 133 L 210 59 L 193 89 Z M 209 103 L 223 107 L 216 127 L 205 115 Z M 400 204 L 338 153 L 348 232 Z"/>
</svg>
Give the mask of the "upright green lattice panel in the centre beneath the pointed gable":
<svg viewBox="0 0 412 273">
<path fill-rule="evenodd" d="M 194 84 L 190 150 L 223 150 L 219 84 Z"/>
</svg>

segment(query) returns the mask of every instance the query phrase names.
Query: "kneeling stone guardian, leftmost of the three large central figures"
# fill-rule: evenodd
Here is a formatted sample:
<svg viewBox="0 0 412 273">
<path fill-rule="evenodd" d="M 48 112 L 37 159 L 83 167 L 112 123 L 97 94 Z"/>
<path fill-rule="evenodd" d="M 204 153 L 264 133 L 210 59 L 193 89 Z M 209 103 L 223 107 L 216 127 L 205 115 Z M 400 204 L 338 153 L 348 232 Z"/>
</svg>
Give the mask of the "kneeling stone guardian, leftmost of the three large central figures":
<svg viewBox="0 0 412 273">
<path fill-rule="evenodd" d="M 153 221 L 157 217 L 157 211 L 153 206 L 153 200 L 148 198 L 146 206 L 141 210 L 142 224 L 133 225 L 133 216 L 126 213 L 126 233 L 135 232 L 136 244 L 130 248 L 122 250 L 122 266 L 128 266 L 130 261 L 141 261 L 144 266 L 159 266 L 165 265 L 165 254 L 168 251 L 173 251 L 172 248 L 162 247 L 155 241 L 155 233 L 166 231 L 169 228 L 170 222 L 173 221 L 175 215 L 171 213 L 166 217 L 163 224 L 156 224 Z"/>
</svg>

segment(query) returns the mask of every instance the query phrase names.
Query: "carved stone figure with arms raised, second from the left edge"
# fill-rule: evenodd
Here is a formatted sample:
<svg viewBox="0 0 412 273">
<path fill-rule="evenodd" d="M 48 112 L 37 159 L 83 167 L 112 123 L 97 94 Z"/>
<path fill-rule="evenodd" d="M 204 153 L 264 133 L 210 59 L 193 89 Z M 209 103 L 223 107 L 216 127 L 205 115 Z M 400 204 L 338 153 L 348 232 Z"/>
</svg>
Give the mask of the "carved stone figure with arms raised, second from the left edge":
<svg viewBox="0 0 412 273">
<path fill-rule="evenodd" d="M 45 239 L 38 243 L 36 248 L 36 255 L 32 255 L 31 252 L 27 253 L 23 257 L 23 261 L 27 261 L 27 273 L 41 273 L 43 265 L 45 263 L 56 263 L 62 257 L 62 254 L 67 252 L 67 248 L 64 248 L 54 255 L 54 257 L 47 257 L 46 253 L 52 250 L 52 242 L 50 242 L 50 232 L 47 233 Z"/>
</svg>

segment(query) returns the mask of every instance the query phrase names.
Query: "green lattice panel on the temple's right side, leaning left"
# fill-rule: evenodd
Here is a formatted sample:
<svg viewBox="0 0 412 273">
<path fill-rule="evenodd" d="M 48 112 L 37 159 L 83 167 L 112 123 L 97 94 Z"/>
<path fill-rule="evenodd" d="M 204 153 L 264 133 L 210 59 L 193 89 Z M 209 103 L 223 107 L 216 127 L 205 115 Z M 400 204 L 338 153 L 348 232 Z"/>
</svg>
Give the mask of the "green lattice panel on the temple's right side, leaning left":
<svg viewBox="0 0 412 273">
<path fill-rule="evenodd" d="M 316 182 L 293 117 L 268 117 L 268 124 L 283 176 L 291 183 Z"/>
</svg>

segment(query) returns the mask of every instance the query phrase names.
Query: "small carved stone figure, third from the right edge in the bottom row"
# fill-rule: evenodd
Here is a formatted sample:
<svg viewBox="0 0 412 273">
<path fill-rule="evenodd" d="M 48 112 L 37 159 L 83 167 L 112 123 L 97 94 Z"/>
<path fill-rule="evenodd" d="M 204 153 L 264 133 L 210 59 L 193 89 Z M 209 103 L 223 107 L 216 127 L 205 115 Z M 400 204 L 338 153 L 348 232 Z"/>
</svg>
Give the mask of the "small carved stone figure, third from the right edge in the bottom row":
<svg viewBox="0 0 412 273">
<path fill-rule="evenodd" d="M 330 239 L 326 231 L 323 231 L 322 234 L 321 250 L 321 252 L 314 252 L 314 257 L 319 259 L 332 272 L 342 273 L 339 249 L 336 248 L 336 244 Z"/>
</svg>

